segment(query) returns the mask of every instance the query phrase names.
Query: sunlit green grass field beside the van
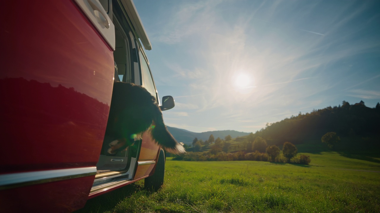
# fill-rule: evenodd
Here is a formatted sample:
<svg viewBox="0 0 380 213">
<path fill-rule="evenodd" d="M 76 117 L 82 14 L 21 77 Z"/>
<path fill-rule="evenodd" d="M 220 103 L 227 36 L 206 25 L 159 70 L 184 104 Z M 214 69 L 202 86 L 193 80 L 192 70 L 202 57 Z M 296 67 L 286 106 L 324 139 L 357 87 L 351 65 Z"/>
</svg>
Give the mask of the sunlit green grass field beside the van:
<svg viewBox="0 0 380 213">
<path fill-rule="evenodd" d="M 142 180 L 78 212 L 380 212 L 379 158 L 305 154 L 310 165 L 168 159 L 158 192 Z"/>
</svg>

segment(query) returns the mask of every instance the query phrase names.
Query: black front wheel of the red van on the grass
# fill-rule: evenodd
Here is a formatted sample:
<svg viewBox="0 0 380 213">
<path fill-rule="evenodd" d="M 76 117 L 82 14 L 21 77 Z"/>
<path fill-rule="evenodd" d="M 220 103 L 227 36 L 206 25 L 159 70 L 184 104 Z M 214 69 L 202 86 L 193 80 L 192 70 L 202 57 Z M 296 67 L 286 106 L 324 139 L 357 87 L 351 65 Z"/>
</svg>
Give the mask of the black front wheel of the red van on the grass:
<svg viewBox="0 0 380 213">
<path fill-rule="evenodd" d="M 156 170 L 154 171 L 152 176 L 147 177 L 144 180 L 144 187 L 147 190 L 157 191 L 161 188 L 164 183 L 165 176 L 165 153 L 164 150 L 160 150 L 160 154 L 158 155 L 158 162 L 156 166 Z"/>
</svg>

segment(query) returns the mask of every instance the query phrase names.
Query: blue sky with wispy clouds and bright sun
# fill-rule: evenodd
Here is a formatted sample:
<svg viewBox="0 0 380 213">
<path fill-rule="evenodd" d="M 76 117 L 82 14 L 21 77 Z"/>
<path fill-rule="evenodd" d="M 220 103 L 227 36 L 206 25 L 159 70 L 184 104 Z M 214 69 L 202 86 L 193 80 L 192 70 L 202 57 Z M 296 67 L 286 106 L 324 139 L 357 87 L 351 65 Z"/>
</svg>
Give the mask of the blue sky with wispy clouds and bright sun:
<svg viewBox="0 0 380 213">
<path fill-rule="evenodd" d="M 380 101 L 380 1 L 135 0 L 165 124 L 256 132 Z"/>
</svg>

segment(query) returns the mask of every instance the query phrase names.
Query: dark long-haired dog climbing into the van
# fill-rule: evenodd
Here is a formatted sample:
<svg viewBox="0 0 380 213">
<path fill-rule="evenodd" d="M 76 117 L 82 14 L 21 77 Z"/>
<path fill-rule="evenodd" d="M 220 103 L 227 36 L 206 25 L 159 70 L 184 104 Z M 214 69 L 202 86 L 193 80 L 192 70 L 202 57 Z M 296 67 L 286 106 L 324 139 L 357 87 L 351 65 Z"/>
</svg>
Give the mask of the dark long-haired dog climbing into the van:
<svg viewBox="0 0 380 213">
<path fill-rule="evenodd" d="M 115 154 L 125 150 L 141 139 L 146 130 L 167 152 L 185 153 L 184 147 L 169 133 L 156 98 L 142 86 L 115 81 L 109 111 L 106 135 L 116 138 L 108 153 Z"/>
</svg>

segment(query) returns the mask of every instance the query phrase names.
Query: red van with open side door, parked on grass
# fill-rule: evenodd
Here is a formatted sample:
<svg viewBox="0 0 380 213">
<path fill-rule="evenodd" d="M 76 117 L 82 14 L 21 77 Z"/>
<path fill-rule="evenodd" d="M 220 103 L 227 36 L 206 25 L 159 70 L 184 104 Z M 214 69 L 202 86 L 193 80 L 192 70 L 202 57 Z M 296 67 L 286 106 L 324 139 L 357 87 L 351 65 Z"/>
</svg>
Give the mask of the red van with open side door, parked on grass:
<svg viewBox="0 0 380 213">
<path fill-rule="evenodd" d="M 106 152 L 114 81 L 159 100 L 132 0 L 5 1 L 0 16 L 0 211 L 70 212 L 137 180 L 160 187 L 165 155 L 149 132 Z"/>
</svg>

